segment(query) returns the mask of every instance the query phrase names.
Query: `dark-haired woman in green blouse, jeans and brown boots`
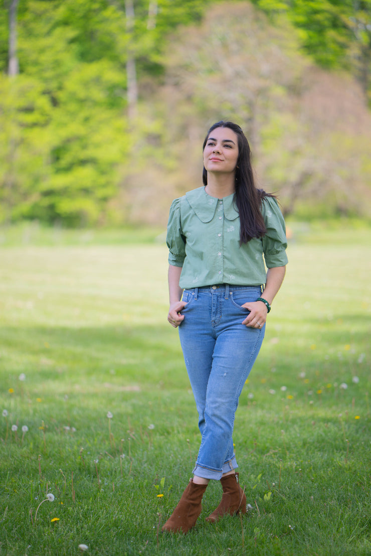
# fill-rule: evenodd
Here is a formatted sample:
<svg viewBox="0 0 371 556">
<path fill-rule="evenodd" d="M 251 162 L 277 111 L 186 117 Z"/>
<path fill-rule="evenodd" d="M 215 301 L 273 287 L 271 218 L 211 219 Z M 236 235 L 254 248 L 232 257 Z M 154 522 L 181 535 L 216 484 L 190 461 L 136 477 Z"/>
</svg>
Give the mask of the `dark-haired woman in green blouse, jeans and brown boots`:
<svg viewBox="0 0 371 556">
<path fill-rule="evenodd" d="M 242 129 L 215 123 L 203 162 L 204 186 L 173 201 L 167 234 L 168 321 L 179 327 L 202 435 L 193 479 L 162 529 L 183 533 L 194 527 L 210 479 L 220 480 L 223 495 L 208 522 L 246 512 L 234 416 L 287 264 L 283 217 L 275 198 L 254 185 Z"/>
</svg>

